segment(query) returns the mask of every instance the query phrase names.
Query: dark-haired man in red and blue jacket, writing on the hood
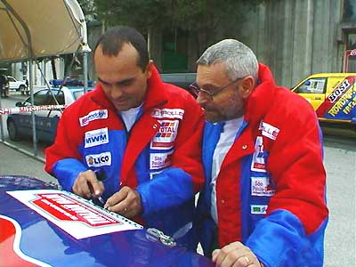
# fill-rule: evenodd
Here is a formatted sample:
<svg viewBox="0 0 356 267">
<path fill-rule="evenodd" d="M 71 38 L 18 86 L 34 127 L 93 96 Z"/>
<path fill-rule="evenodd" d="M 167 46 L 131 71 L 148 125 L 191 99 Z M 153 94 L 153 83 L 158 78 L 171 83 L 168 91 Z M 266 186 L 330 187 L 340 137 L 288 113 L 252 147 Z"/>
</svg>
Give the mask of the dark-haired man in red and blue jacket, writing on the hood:
<svg viewBox="0 0 356 267">
<path fill-rule="evenodd" d="M 45 170 L 64 190 L 193 247 L 202 110 L 161 81 L 134 28 L 110 28 L 93 59 L 99 83 L 63 112 Z"/>
</svg>

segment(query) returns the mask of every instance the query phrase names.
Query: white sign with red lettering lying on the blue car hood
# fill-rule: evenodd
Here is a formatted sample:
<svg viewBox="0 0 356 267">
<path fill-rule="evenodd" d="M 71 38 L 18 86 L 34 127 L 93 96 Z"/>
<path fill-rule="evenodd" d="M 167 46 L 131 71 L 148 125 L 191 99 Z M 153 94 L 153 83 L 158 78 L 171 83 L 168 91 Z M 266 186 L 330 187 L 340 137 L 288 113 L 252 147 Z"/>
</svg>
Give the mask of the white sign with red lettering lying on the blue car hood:
<svg viewBox="0 0 356 267">
<path fill-rule="evenodd" d="M 20 190 L 7 193 L 75 239 L 142 228 L 140 224 L 94 206 L 90 201 L 67 191 Z"/>
</svg>

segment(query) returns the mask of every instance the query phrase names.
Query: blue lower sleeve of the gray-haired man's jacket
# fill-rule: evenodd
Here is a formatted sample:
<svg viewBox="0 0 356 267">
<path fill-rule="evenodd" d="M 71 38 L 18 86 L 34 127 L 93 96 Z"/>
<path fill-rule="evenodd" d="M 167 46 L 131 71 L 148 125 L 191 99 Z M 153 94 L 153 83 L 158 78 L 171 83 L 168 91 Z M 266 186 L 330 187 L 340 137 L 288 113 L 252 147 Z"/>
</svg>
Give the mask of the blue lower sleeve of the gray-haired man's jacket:
<svg viewBox="0 0 356 267">
<path fill-rule="evenodd" d="M 298 218 L 276 210 L 260 222 L 247 239 L 247 247 L 268 267 L 323 266 L 325 220 L 317 231 L 306 235 Z"/>
</svg>

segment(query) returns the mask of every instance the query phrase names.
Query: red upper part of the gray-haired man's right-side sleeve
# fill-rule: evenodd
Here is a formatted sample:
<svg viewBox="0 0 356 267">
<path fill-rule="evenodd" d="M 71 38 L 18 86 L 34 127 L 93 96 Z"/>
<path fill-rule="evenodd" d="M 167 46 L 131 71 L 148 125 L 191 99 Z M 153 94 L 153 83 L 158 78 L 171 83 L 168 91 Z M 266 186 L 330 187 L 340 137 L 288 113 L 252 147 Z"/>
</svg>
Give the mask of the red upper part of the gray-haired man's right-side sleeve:
<svg viewBox="0 0 356 267">
<path fill-rule="evenodd" d="M 267 163 L 276 182 L 268 214 L 287 209 L 301 220 L 309 234 L 328 216 L 321 131 L 311 105 L 300 97 L 292 99 L 287 110 L 277 112 L 283 114 L 279 117 L 283 125 Z"/>
</svg>

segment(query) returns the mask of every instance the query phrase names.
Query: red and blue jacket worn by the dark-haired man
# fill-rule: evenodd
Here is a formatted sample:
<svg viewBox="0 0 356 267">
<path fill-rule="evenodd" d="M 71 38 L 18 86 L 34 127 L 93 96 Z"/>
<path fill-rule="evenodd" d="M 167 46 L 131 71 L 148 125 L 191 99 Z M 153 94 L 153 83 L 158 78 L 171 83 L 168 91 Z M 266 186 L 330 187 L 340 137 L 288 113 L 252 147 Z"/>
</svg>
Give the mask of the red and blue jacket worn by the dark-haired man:
<svg viewBox="0 0 356 267">
<path fill-rule="evenodd" d="M 163 83 L 153 67 L 129 133 L 98 85 L 63 112 L 55 142 L 45 150 L 45 170 L 69 191 L 80 172 L 103 170 L 104 200 L 123 186 L 137 190 L 143 207 L 139 222 L 193 247 L 194 195 L 204 181 L 203 126 L 202 110 L 190 93 Z"/>
</svg>

